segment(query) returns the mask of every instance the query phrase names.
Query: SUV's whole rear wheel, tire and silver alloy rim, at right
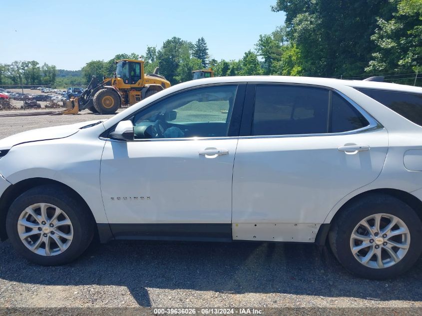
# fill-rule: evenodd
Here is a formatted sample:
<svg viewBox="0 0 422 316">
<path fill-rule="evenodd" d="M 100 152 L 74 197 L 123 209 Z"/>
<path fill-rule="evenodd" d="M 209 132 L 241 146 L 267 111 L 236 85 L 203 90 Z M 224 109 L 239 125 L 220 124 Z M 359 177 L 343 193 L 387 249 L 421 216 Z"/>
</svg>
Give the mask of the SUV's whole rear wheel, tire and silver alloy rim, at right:
<svg viewBox="0 0 422 316">
<path fill-rule="evenodd" d="M 334 255 L 350 272 L 367 279 L 391 279 L 420 257 L 422 223 L 401 200 L 371 194 L 341 210 L 329 239 Z"/>
</svg>

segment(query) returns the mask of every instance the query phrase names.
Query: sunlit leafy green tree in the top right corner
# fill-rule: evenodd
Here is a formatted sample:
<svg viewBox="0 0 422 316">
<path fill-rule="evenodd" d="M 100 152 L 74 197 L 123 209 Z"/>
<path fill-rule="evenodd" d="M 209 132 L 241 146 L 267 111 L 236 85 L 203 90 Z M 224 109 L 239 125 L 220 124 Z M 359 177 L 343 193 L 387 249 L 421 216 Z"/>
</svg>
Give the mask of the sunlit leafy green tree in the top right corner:
<svg viewBox="0 0 422 316">
<path fill-rule="evenodd" d="M 367 71 L 422 68 L 422 0 L 392 1 L 397 11 L 391 20 L 378 19 L 371 39 L 377 45 Z"/>
</svg>

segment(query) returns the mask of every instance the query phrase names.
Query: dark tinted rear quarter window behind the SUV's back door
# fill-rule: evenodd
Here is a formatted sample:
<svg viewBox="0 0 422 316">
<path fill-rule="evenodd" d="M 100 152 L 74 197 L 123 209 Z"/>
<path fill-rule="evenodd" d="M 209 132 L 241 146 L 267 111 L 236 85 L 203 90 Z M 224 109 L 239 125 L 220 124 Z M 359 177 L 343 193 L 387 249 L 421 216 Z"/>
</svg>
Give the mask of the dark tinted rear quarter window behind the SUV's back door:
<svg viewBox="0 0 422 316">
<path fill-rule="evenodd" d="M 355 89 L 422 126 L 422 93 L 367 88 Z"/>
</svg>

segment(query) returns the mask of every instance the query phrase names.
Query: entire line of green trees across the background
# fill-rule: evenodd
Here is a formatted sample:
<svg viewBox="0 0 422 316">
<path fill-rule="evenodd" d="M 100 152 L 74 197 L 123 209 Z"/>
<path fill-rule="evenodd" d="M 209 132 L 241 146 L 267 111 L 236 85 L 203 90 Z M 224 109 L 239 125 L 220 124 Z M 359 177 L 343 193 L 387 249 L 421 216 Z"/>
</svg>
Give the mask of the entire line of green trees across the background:
<svg viewBox="0 0 422 316">
<path fill-rule="evenodd" d="M 422 70 L 422 0 L 275 2 L 271 9 L 286 13 L 284 24 L 260 35 L 255 46 L 237 60 L 211 58 L 203 37 L 190 42 L 174 36 L 158 49 L 148 46 L 142 55 L 121 53 L 107 61 L 89 61 L 77 74 L 62 70 L 57 77 L 52 74 L 54 66 L 39 66 L 36 61 L 0 64 L 0 84 L 2 80 L 17 83 L 19 76 L 29 83 L 86 84 L 94 74 L 99 78 L 113 75 L 115 60 L 139 56 L 145 61 L 145 73 L 159 67 L 171 84 L 191 80 L 192 70 L 208 67 L 216 76 L 393 74 L 397 82 L 408 84 L 414 83 L 415 76 L 397 74 Z"/>
</svg>

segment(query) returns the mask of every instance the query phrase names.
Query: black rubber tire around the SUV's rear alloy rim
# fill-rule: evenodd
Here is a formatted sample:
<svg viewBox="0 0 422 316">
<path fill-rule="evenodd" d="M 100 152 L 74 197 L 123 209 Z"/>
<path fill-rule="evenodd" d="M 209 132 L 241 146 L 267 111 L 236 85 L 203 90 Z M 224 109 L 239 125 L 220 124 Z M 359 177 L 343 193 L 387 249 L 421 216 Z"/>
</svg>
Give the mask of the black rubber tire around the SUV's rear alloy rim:
<svg viewBox="0 0 422 316">
<path fill-rule="evenodd" d="M 366 279 L 392 279 L 407 272 L 421 256 L 421 219 L 408 204 L 401 200 L 386 194 L 373 193 L 351 202 L 340 212 L 329 233 L 329 241 L 335 257 L 351 273 Z M 359 222 L 379 213 L 393 215 L 403 221 L 409 229 L 410 244 L 407 253 L 396 264 L 375 269 L 365 266 L 355 258 L 351 250 L 351 235 Z M 376 257 L 373 257 L 373 261 L 375 259 Z"/>
</svg>

